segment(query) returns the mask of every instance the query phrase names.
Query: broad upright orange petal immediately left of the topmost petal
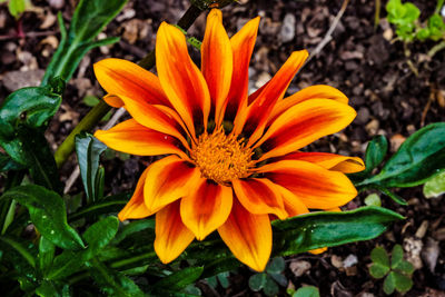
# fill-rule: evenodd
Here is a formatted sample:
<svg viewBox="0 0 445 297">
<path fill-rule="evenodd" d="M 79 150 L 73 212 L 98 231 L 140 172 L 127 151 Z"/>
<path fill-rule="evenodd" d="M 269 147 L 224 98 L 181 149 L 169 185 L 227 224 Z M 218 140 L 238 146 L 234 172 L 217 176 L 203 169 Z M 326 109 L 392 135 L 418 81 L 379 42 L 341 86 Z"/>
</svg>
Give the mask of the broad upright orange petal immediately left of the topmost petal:
<svg viewBox="0 0 445 297">
<path fill-rule="evenodd" d="M 195 123 L 207 129 L 210 95 L 206 80 L 191 61 L 184 33 L 162 22 L 156 39 L 156 67 L 170 103 L 195 135 Z"/>
</svg>

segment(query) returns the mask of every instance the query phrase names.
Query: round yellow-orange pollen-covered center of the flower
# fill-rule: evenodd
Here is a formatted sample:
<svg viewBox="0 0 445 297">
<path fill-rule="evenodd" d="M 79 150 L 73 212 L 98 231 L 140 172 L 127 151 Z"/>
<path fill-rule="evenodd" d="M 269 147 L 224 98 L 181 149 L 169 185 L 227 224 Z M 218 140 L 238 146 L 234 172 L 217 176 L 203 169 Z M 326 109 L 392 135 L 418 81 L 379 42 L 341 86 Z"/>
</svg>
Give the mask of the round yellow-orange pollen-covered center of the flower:
<svg viewBox="0 0 445 297">
<path fill-rule="evenodd" d="M 191 159 L 205 178 L 227 185 L 236 178 L 248 176 L 253 166 L 253 151 L 234 135 L 225 135 L 222 128 L 211 135 L 205 132 L 191 150 Z"/>
</svg>

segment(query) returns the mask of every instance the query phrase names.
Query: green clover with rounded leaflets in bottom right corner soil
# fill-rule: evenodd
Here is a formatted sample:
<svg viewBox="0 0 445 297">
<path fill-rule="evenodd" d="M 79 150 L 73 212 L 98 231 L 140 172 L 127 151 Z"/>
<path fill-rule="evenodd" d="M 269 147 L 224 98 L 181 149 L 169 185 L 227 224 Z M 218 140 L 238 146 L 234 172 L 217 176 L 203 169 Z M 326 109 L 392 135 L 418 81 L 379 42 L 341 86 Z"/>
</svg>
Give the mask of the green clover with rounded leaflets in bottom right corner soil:
<svg viewBox="0 0 445 297">
<path fill-rule="evenodd" d="M 400 245 L 395 245 L 389 256 L 383 247 L 376 247 L 370 253 L 370 259 L 373 260 L 369 267 L 369 274 L 374 278 L 385 278 L 383 283 L 383 290 L 385 294 L 393 294 L 397 290 L 400 294 L 405 294 L 413 287 L 412 275 L 414 273 L 413 265 L 404 260 L 404 254 Z"/>
</svg>

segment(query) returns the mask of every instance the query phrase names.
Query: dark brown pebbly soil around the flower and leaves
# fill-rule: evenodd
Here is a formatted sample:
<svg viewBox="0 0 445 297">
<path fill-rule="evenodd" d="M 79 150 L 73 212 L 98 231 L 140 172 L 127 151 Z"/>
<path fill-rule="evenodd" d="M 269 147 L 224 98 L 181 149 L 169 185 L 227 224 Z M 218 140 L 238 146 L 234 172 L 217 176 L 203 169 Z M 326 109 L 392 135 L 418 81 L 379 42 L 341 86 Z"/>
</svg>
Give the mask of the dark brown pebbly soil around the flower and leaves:
<svg viewBox="0 0 445 297">
<path fill-rule="evenodd" d="M 9 16 L 6 4 L 0 6 L 0 102 L 19 87 L 39 83 L 59 42 L 56 14 L 62 11 L 69 21 L 76 1 L 32 2 L 34 8 L 19 21 Z M 411 56 L 406 58 L 403 43 L 394 41 L 394 28 L 385 19 L 386 1 L 382 2 L 380 21 L 375 27 L 375 1 L 352 0 L 332 40 L 290 85 L 289 93 L 312 85 L 334 86 L 349 97 L 358 112 L 347 129 L 315 142 L 308 148 L 310 151 L 363 157 L 367 141 L 375 135 L 385 135 L 394 152 L 414 131 L 431 122 L 445 121 L 445 50 L 431 59 L 426 52 L 434 42 L 415 42 L 408 46 Z M 433 0 L 413 2 L 421 9 L 422 20 L 434 11 Z M 225 8 L 224 23 L 229 36 L 247 20 L 261 16 L 250 65 L 250 88 L 254 90 L 265 83 L 294 50 L 314 50 L 340 7 L 339 0 L 240 0 Z M 120 36 L 120 41 L 92 50 L 70 81 L 62 107 L 47 132 L 53 149 L 90 109 L 85 98 L 103 95 L 91 65 L 107 57 L 138 61 L 154 49 L 159 23 L 162 20 L 176 22 L 187 8 L 188 1 L 181 0 L 129 1 L 100 34 L 100 38 Z M 189 33 L 201 39 L 204 28 L 205 16 L 201 16 Z M 198 62 L 197 50 L 190 49 L 190 52 Z M 408 67 L 408 59 L 417 75 Z M 63 179 L 73 170 L 75 161 L 71 158 L 62 168 Z M 131 190 L 150 161 L 150 158 L 108 152 L 103 158 L 108 192 Z M 78 181 L 70 192 L 80 189 Z M 367 194 L 360 194 L 345 209 L 364 205 Z M 385 196 L 382 196 L 383 206 L 406 216 L 406 220 L 372 241 L 330 248 L 318 256 L 303 254 L 286 258 L 288 286 L 314 285 L 322 296 L 385 296 L 383 280 L 375 280 L 368 274 L 370 250 L 377 245 L 390 250 L 395 244 L 400 244 L 416 267 L 414 287 L 406 296 L 445 296 L 444 197 L 426 199 L 421 187 L 400 189 L 397 194 L 409 201 L 407 207 Z M 303 273 L 296 273 L 295 267 L 303 267 Z M 227 289 L 210 289 L 205 283 L 199 287 L 206 296 L 260 296 L 248 289 L 251 274 L 247 268 L 233 271 Z"/>
</svg>

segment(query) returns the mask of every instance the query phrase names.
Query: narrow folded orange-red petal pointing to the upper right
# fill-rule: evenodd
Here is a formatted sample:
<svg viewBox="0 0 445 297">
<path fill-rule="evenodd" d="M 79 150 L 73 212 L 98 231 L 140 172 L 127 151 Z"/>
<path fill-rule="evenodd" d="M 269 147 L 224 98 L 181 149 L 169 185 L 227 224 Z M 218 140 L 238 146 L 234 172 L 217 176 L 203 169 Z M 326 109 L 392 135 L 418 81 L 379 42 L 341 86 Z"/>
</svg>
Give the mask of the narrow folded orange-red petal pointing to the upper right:
<svg viewBox="0 0 445 297">
<path fill-rule="evenodd" d="M 290 81 L 306 61 L 308 57 L 307 50 L 295 51 L 267 86 L 258 95 L 255 101 L 247 108 L 245 119 L 240 115 L 235 119 L 234 131 L 249 137 L 248 146 L 257 141 L 266 127 L 267 119 L 270 116 L 276 102 L 285 96 L 286 89 Z"/>
</svg>

